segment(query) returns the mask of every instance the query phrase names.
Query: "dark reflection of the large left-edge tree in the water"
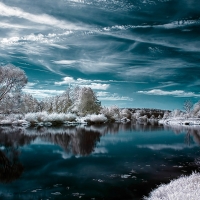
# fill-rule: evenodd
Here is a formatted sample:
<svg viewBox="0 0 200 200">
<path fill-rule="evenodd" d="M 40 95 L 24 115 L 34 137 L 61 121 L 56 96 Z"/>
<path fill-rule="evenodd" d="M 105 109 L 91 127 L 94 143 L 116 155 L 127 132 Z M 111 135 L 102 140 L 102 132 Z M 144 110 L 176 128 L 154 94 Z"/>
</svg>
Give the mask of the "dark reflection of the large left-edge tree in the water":
<svg viewBox="0 0 200 200">
<path fill-rule="evenodd" d="M 0 181 L 4 183 L 18 179 L 24 171 L 19 161 L 19 147 L 30 144 L 34 139 L 23 129 L 14 127 L 0 127 Z"/>
</svg>

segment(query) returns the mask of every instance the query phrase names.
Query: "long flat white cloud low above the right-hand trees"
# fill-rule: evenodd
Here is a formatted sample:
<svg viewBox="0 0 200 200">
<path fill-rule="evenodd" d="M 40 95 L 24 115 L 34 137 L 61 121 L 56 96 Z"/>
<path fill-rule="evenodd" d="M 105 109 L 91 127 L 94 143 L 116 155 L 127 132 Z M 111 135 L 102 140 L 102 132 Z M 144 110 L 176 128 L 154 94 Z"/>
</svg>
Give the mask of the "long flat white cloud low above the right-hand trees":
<svg viewBox="0 0 200 200">
<path fill-rule="evenodd" d="M 160 96 L 175 96 L 175 97 L 200 97 L 200 94 L 194 92 L 185 92 L 183 90 L 164 91 L 160 89 L 153 89 L 149 91 L 138 91 L 140 94 L 160 95 Z"/>
</svg>

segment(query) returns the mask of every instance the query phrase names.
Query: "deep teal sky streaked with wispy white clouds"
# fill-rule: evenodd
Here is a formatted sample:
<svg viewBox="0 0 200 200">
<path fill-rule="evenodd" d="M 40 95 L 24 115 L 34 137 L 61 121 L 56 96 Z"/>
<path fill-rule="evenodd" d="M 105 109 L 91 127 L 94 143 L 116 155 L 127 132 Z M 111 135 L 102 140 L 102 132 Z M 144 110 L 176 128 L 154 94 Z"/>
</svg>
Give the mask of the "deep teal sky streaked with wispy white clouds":
<svg viewBox="0 0 200 200">
<path fill-rule="evenodd" d="M 0 66 L 38 99 L 91 87 L 103 106 L 200 100 L 199 0 L 0 0 Z"/>
</svg>

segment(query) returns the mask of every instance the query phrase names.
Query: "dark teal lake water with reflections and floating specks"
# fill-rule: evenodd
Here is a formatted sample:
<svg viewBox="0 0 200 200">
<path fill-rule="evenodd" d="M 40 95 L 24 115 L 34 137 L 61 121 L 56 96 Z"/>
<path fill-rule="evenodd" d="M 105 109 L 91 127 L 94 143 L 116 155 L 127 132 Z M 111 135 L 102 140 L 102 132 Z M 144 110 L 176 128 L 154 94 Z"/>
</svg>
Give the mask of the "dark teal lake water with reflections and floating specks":
<svg viewBox="0 0 200 200">
<path fill-rule="evenodd" d="M 198 127 L 0 127 L 0 199 L 142 199 L 198 171 Z"/>
</svg>

